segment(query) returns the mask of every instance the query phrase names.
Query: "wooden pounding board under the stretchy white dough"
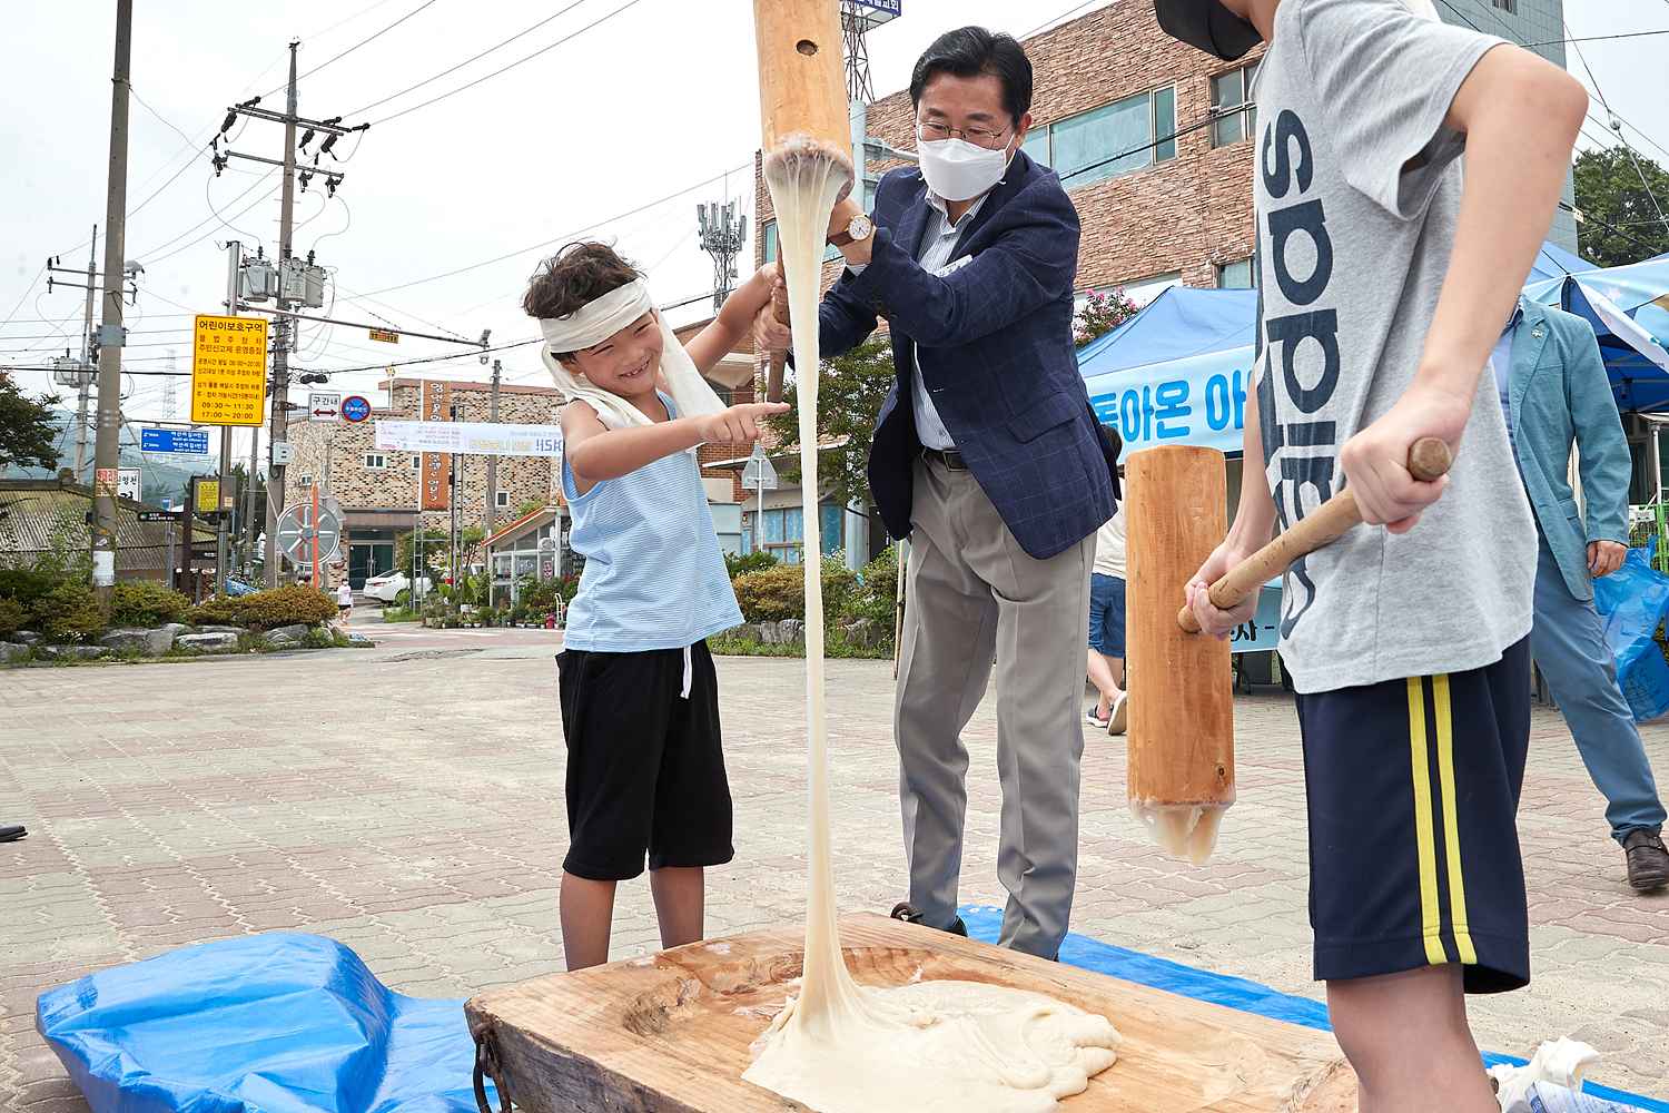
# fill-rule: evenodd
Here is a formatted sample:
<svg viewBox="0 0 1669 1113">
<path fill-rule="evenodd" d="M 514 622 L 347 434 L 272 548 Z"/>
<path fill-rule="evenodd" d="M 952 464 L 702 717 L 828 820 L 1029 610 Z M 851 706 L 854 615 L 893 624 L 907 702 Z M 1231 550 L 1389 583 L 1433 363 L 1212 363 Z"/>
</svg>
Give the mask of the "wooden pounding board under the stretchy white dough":
<svg viewBox="0 0 1669 1113">
<path fill-rule="evenodd" d="M 1355 1110 L 1355 1078 L 1325 1031 L 881 916 L 845 916 L 841 943 L 863 985 L 988 981 L 1110 1018 L 1118 1061 L 1066 1113 Z M 491 990 L 464 1011 L 491 1043 L 499 1093 L 531 1113 L 803 1110 L 741 1078 L 749 1045 L 798 993 L 801 959 L 801 928 L 756 931 Z"/>
</svg>

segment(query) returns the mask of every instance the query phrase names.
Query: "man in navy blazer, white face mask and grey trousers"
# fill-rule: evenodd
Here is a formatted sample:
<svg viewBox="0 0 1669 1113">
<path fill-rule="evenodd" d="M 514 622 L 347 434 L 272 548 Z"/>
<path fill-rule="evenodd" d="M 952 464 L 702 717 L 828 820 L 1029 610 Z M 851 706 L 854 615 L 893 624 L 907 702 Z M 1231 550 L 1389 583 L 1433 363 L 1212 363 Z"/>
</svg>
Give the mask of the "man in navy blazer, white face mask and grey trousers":
<svg viewBox="0 0 1669 1113">
<path fill-rule="evenodd" d="M 819 312 L 826 357 L 885 319 L 898 370 L 870 491 L 911 541 L 895 706 L 910 904 L 961 928 L 961 729 L 995 656 L 1001 943 L 1048 958 L 1077 879 L 1090 566 L 1113 516 L 1071 335 L 1078 214 L 1020 150 L 1031 63 L 1013 38 L 943 35 L 910 95 L 921 165 L 881 179 L 873 217 L 836 205 L 848 269 Z"/>
</svg>

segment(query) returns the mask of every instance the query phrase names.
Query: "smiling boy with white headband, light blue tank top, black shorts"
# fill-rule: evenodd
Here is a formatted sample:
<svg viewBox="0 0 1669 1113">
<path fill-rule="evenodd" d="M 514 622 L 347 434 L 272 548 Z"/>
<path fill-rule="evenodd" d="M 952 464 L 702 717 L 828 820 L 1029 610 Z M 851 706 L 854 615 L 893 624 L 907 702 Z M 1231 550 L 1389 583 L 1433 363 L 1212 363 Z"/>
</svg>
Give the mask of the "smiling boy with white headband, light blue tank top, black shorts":
<svg viewBox="0 0 1669 1113">
<path fill-rule="evenodd" d="M 586 557 L 557 657 L 567 744 L 569 969 L 609 956 L 614 886 L 643 873 L 661 944 L 701 939 L 704 866 L 728 863 L 731 798 L 706 637 L 741 626 L 696 447 L 743 444 L 783 404 L 724 407 L 701 377 L 769 312 L 774 267 L 686 350 L 643 275 L 604 244 L 546 260 L 522 300 L 562 409 L 562 494 Z"/>
</svg>

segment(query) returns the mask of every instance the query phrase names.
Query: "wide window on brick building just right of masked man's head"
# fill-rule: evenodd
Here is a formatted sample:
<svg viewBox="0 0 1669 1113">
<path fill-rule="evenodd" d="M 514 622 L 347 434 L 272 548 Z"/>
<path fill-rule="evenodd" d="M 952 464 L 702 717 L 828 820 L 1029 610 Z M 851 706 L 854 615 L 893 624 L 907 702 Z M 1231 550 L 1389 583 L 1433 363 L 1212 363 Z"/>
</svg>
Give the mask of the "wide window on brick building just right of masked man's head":
<svg viewBox="0 0 1669 1113">
<path fill-rule="evenodd" d="M 1177 157 L 1172 85 L 1031 128 L 1021 149 L 1078 189 Z"/>
</svg>

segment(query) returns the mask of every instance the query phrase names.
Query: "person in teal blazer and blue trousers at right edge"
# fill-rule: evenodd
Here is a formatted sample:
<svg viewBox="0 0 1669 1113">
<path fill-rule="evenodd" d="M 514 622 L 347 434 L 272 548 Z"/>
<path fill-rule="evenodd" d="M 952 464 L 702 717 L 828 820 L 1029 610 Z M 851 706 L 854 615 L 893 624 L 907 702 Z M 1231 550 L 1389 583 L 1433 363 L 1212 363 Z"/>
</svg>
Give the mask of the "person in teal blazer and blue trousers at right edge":
<svg viewBox="0 0 1669 1113">
<path fill-rule="evenodd" d="M 1629 442 L 1586 320 L 1520 299 L 1490 354 L 1500 412 L 1540 539 L 1530 652 L 1606 796 L 1629 884 L 1669 884 L 1664 806 L 1594 611 L 1594 579 L 1622 567 L 1629 542 Z M 1567 479 L 1581 451 L 1584 516 Z"/>
</svg>

